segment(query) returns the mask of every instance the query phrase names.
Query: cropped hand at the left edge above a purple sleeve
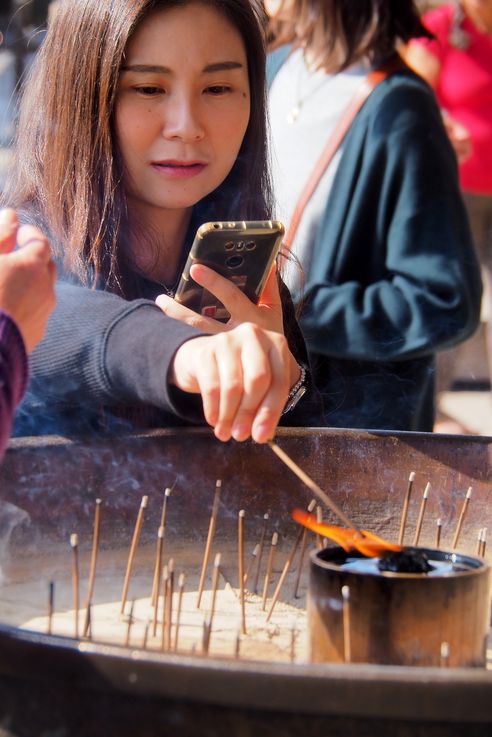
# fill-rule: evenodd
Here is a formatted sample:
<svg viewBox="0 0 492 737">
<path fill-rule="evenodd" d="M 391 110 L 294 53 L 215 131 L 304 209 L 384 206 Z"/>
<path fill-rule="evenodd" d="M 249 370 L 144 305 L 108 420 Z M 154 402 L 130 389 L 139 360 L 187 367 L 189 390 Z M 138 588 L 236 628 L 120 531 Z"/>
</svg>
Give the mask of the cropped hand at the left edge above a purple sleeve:
<svg viewBox="0 0 492 737">
<path fill-rule="evenodd" d="M 14 251 L 18 243 L 21 248 Z M 44 335 L 55 306 L 56 269 L 47 238 L 19 227 L 13 210 L 0 211 L 0 309 L 14 320 L 30 353 Z"/>
</svg>

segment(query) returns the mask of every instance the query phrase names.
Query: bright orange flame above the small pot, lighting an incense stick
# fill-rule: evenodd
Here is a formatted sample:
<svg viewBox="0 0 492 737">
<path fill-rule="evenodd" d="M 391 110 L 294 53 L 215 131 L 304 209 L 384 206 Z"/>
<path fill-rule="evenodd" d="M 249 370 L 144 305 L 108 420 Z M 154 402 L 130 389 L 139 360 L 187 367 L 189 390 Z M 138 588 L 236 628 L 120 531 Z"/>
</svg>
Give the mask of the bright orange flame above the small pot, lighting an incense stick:
<svg viewBox="0 0 492 737">
<path fill-rule="evenodd" d="M 367 558 L 377 558 L 382 553 L 391 552 L 398 553 L 403 550 L 401 545 L 390 543 L 378 537 L 373 532 L 360 530 L 362 536 L 357 530 L 347 530 L 344 527 L 336 527 L 335 525 L 325 525 L 323 522 L 317 522 L 316 517 L 302 509 L 294 509 L 292 517 L 299 524 L 307 527 L 308 530 L 316 532 L 318 535 L 328 537 L 330 540 L 338 543 L 346 553 L 357 550 Z"/>
</svg>

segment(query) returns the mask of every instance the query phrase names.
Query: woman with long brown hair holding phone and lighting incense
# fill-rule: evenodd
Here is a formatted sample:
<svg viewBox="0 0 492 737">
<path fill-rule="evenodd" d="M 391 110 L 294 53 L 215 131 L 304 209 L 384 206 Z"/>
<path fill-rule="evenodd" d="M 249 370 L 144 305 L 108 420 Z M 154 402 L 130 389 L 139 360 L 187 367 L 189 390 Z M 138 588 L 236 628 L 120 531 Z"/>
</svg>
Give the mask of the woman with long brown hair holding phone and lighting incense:
<svg viewBox="0 0 492 737">
<path fill-rule="evenodd" d="M 166 299 L 199 224 L 270 217 L 264 97 L 248 0 L 59 4 L 4 194 L 49 236 L 63 271 L 17 432 L 204 414 L 221 440 L 272 436 L 305 375 L 275 275 L 255 306 L 196 268 L 229 309 L 225 326 Z"/>
</svg>

